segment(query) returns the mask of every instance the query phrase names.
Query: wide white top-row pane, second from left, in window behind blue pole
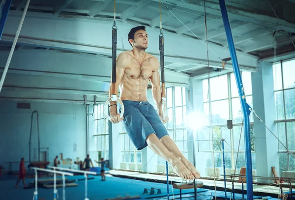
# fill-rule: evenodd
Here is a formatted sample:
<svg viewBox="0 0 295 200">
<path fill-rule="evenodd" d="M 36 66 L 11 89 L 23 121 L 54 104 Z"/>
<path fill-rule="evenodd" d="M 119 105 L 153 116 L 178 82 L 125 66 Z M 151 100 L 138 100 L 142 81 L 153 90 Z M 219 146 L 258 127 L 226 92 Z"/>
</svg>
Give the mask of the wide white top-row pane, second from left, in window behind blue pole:
<svg viewBox="0 0 295 200">
<path fill-rule="evenodd" d="M 228 98 L 227 75 L 210 79 L 211 101 Z"/>
</svg>

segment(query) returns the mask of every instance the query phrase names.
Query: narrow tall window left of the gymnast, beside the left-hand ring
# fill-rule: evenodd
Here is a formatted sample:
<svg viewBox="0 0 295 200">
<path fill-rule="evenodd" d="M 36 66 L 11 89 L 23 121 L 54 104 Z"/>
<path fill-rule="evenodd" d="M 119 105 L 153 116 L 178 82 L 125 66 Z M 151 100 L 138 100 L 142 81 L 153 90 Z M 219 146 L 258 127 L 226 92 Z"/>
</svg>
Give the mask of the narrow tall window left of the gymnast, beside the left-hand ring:
<svg viewBox="0 0 295 200">
<path fill-rule="evenodd" d="M 104 115 L 104 105 L 94 107 L 94 134 L 90 137 L 90 158 L 109 159 L 109 123 Z M 95 162 L 93 162 L 94 164 Z M 95 163 L 95 165 L 97 165 Z"/>
</svg>

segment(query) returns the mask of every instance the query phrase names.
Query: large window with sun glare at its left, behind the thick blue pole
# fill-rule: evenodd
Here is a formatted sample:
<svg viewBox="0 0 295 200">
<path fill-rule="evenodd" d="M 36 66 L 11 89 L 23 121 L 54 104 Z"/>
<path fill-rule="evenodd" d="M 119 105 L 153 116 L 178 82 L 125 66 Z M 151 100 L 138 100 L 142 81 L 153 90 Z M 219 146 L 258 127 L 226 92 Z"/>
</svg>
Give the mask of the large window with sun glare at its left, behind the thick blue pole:
<svg viewBox="0 0 295 200">
<path fill-rule="evenodd" d="M 246 101 L 252 107 L 251 73 L 242 72 L 241 75 Z M 236 156 L 238 152 L 236 166 L 238 169 L 242 166 L 245 166 L 245 143 L 244 128 L 242 126 L 243 114 L 238 96 L 235 75 L 234 73 L 229 73 L 226 75 L 210 78 L 209 84 L 210 90 L 208 87 L 208 79 L 203 80 L 204 114 L 206 115 L 207 120 L 204 120 L 203 128 L 197 131 L 196 138 L 198 141 L 198 150 L 199 152 L 206 153 L 207 167 L 214 167 L 213 154 L 215 167 L 221 167 L 223 162 L 221 139 L 224 139 L 226 168 L 235 168 Z M 211 96 L 210 101 L 209 94 Z M 232 129 L 227 128 L 227 120 L 229 119 L 233 120 Z M 212 122 L 212 126 L 210 126 L 210 121 Z M 255 169 L 256 165 L 252 115 L 250 115 L 250 134 L 252 167 Z"/>
</svg>

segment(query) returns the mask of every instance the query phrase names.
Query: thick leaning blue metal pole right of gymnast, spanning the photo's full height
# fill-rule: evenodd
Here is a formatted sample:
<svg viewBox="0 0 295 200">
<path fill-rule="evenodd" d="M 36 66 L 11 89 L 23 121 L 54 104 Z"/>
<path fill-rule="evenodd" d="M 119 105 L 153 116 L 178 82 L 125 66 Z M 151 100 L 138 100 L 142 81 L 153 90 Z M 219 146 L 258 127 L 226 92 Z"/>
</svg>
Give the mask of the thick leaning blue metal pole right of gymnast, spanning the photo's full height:
<svg viewBox="0 0 295 200">
<path fill-rule="evenodd" d="M 238 94 L 240 97 L 241 107 L 244 116 L 244 133 L 245 133 L 245 154 L 246 154 L 246 182 L 247 182 L 247 200 L 253 200 L 253 180 L 252 180 L 252 161 L 251 161 L 251 139 L 250 139 L 250 121 L 249 121 L 249 108 L 246 103 L 246 97 L 242 79 L 239 71 L 239 66 L 236 57 L 236 49 L 233 40 L 232 30 L 227 14 L 227 9 L 224 0 L 219 0 L 220 10 L 222 14 L 223 24 L 229 44 L 229 49 L 232 57 L 232 63 L 234 67 L 234 73 L 236 77 L 236 85 L 238 88 Z"/>
</svg>

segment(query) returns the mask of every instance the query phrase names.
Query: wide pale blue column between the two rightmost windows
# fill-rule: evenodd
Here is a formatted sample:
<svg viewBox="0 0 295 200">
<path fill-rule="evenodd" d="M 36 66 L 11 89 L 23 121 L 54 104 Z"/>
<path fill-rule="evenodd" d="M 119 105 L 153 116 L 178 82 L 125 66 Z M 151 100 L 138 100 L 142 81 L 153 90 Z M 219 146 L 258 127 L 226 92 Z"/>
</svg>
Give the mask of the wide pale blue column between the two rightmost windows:
<svg viewBox="0 0 295 200">
<path fill-rule="evenodd" d="M 277 135 L 274 122 L 276 111 L 272 64 L 259 63 L 259 71 L 252 73 L 253 110 L 265 122 L 266 126 Z M 278 141 L 254 116 L 254 136 L 256 152 L 256 171 L 259 176 L 273 177 L 271 167 L 279 169 Z M 259 183 L 272 183 L 271 180 L 258 179 Z"/>
</svg>

